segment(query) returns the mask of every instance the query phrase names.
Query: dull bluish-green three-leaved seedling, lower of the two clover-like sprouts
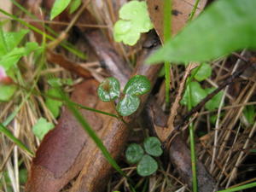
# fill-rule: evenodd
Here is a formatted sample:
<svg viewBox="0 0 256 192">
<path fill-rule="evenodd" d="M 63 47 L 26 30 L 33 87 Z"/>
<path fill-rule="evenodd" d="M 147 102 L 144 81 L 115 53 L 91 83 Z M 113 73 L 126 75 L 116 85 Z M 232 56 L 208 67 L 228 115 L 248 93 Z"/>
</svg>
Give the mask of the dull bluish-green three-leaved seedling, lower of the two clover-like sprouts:
<svg viewBox="0 0 256 192">
<path fill-rule="evenodd" d="M 146 177 L 157 171 L 158 164 L 152 156 L 159 157 L 163 150 L 157 137 L 146 138 L 143 148 L 137 143 L 131 143 L 125 151 L 125 157 L 128 163 L 137 164 L 137 173 L 140 176 Z"/>
</svg>

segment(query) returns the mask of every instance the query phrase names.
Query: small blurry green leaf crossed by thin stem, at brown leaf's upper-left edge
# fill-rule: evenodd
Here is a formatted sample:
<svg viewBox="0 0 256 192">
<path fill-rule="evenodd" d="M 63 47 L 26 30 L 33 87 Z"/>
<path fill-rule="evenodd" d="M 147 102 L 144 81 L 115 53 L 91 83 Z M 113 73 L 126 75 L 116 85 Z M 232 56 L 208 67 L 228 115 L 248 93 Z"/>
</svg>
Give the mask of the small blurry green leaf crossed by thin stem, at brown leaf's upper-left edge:
<svg viewBox="0 0 256 192">
<path fill-rule="evenodd" d="M 50 88 L 49 90 L 47 90 L 46 94 L 49 96 L 61 98 L 59 91 L 55 88 Z M 49 111 L 53 114 L 55 118 L 59 116 L 62 102 L 47 97 L 45 105 L 47 108 L 49 108 Z"/>
</svg>

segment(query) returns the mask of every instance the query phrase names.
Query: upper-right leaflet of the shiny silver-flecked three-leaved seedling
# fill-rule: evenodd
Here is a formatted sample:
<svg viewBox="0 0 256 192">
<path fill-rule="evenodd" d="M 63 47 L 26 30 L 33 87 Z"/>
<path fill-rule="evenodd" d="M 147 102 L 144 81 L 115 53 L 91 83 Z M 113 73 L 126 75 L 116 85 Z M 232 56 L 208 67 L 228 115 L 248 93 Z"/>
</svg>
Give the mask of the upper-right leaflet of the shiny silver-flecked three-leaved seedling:
<svg viewBox="0 0 256 192">
<path fill-rule="evenodd" d="M 151 84 L 146 76 L 135 75 L 125 84 L 124 93 L 133 96 L 141 96 L 148 93 L 150 89 Z"/>
</svg>

